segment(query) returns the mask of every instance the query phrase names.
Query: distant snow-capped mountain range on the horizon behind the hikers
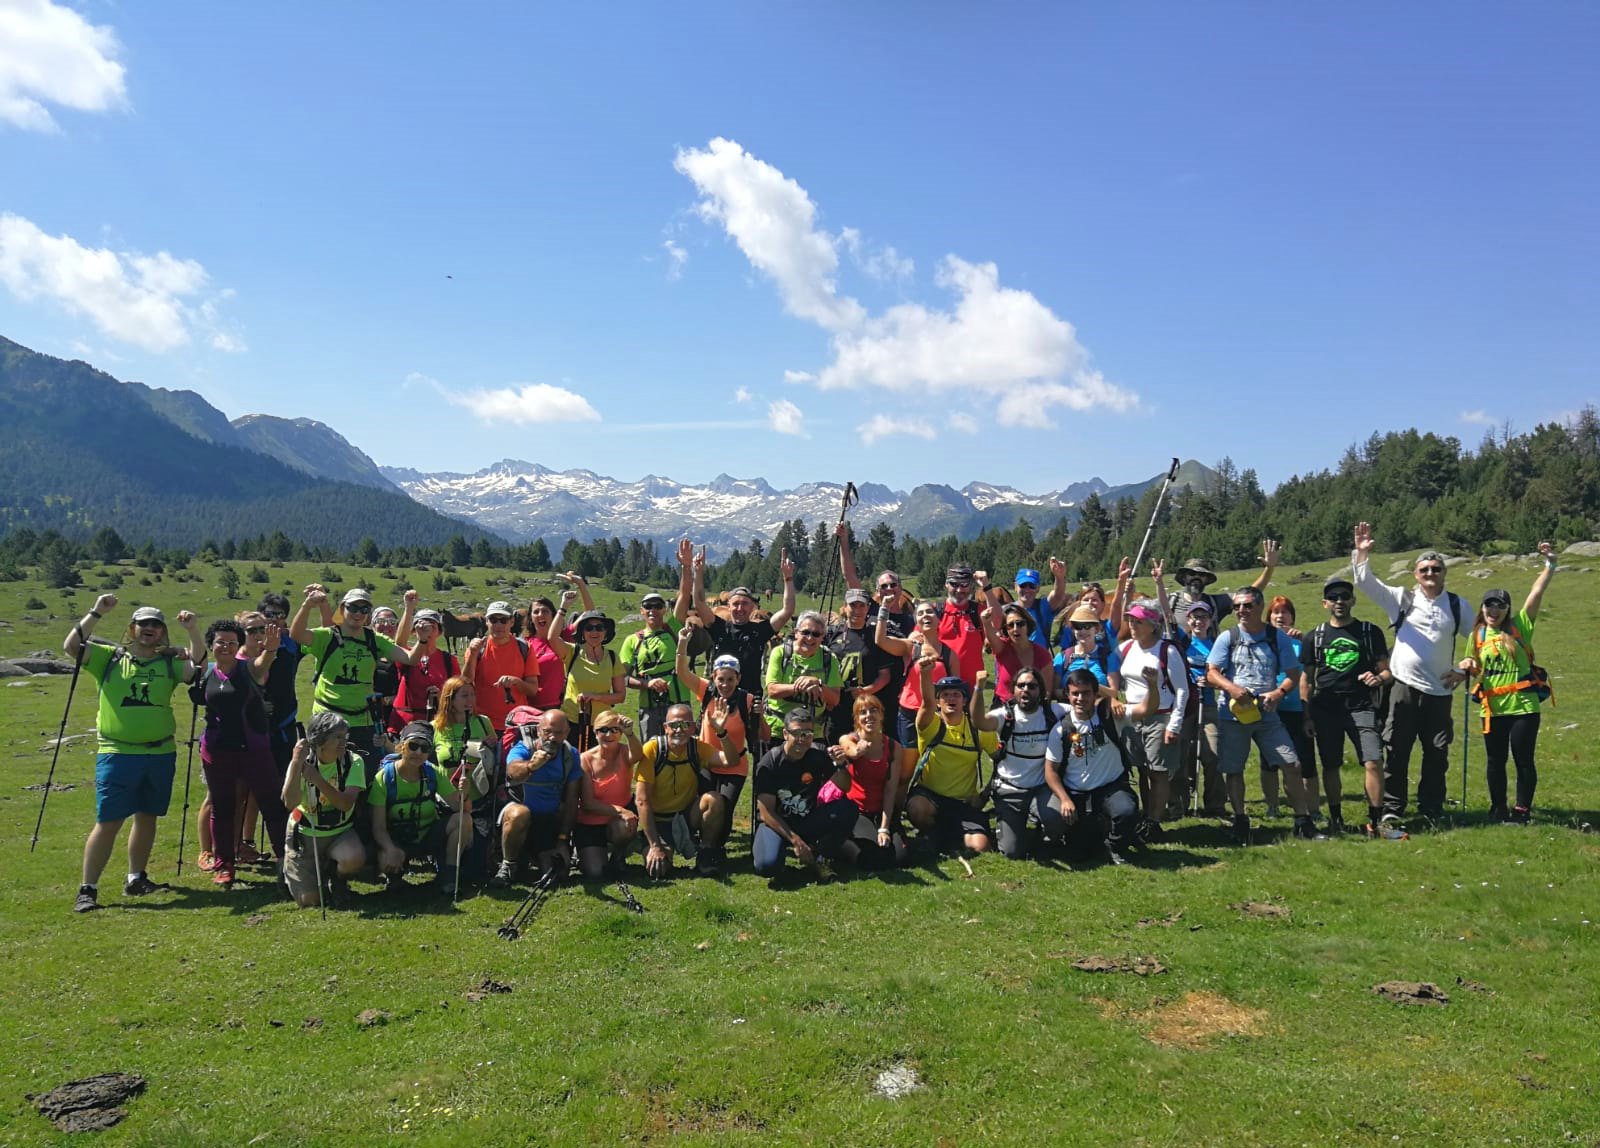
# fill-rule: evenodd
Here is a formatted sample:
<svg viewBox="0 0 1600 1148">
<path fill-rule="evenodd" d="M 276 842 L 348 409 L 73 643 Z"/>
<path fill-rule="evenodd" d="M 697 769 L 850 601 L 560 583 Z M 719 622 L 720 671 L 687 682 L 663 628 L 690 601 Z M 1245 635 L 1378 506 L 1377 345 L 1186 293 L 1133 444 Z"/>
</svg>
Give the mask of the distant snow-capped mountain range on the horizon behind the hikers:
<svg viewBox="0 0 1600 1148">
<path fill-rule="evenodd" d="M 429 475 L 400 467 L 382 467 L 382 473 L 434 510 L 510 539 L 542 537 L 557 548 L 568 537 L 614 536 L 666 544 L 688 534 L 714 553 L 726 553 L 747 547 L 750 539 L 766 542 L 795 518 L 811 528 L 837 521 L 845 492 L 838 483 L 803 483 L 779 491 L 762 478 L 731 475 L 717 475 L 702 486 L 661 475 L 629 483 L 592 470 L 550 470 L 520 459 L 502 459 L 472 475 Z M 1061 516 L 1075 520 L 1077 502 L 1104 489 L 1099 478 L 1043 496 L 978 481 L 960 491 L 918 486 L 909 494 L 862 483 L 856 488 L 861 500 L 851 508 L 850 521 L 858 536 L 877 523 L 888 523 L 902 537 L 950 532 L 971 537 L 987 526 L 1011 526 L 1026 515 L 1043 532 Z"/>
</svg>

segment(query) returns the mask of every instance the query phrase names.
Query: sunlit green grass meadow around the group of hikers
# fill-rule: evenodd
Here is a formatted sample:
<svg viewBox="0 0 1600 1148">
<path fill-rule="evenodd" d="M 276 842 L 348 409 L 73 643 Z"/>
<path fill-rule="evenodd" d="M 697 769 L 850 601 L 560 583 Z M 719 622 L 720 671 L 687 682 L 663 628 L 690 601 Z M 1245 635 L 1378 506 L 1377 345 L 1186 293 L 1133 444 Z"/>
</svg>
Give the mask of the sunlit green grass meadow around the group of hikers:
<svg viewBox="0 0 1600 1148">
<path fill-rule="evenodd" d="M 318 568 L 274 569 L 274 584 L 299 587 Z M 1274 590 L 1314 622 L 1331 568 L 1280 571 Z M 205 584 L 138 587 L 134 572 L 117 617 L 134 598 L 168 616 L 221 612 L 216 571 L 195 569 Z M 1531 582 L 1531 569 L 1498 569 L 1490 582 L 1453 569 L 1451 585 L 1520 595 Z M 461 574 L 470 585 L 458 601 L 491 596 L 486 572 Z M 424 600 L 440 596 L 429 574 L 410 577 Z M 389 582 L 373 580 L 382 596 Z M 0 684 L 0 945 L 11 956 L 0 1143 L 64 1140 L 24 1094 L 112 1070 L 150 1087 L 99 1134 L 107 1145 L 1590 1143 L 1600 836 L 1578 825 L 1600 823 L 1597 588 L 1592 574 L 1558 576 L 1541 620 L 1558 697 L 1531 828 L 1483 823 L 1474 739 L 1454 827 L 1405 843 L 1298 843 L 1285 819 L 1269 823 L 1272 844 L 1240 851 L 1184 822 L 1134 868 L 982 857 L 971 879 L 949 862 L 778 892 L 747 871 L 736 836 L 726 881 L 640 878 L 642 918 L 566 889 L 518 942 L 494 934 L 510 892 L 451 910 L 357 884 L 370 895 L 323 923 L 278 900 L 264 873 L 218 892 L 186 862 L 174 892 L 125 903 L 120 847 L 107 908 L 74 916 L 93 756 L 62 753 L 58 782 L 74 788 L 51 796 L 29 854 L 38 795 L 22 787 L 43 780 L 67 680 Z M 246 582 L 251 601 L 258 592 Z M 30 595 L 58 617 L 24 611 Z M 80 590 L 77 609 L 91 600 Z M 0 656 L 58 648 L 74 612 L 59 592 L 0 584 L 11 624 Z M 1358 612 L 1374 616 L 1370 603 Z M 91 721 L 85 694 L 69 732 Z M 1344 780 L 1358 795 L 1354 766 Z M 1458 747 L 1453 796 L 1459 783 Z M 174 807 L 157 843 L 162 879 L 176 839 Z M 1277 900 L 1290 916 L 1229 908 L 1245 900 Z M 1168 972 L 1074 971 L 1088 953 L 1154 955 Z M 466 1001 L 483 975 L 514 991 Z M 1432 980 L 1451 1003 L 1389 1004 L 1371 987 L 1390 979 Z M 1182 1031 L 1163 1009 L 1211 998 L 1240 1010 L 1238 1034 L 1152 1039 Z M 390 1018 L 360 1028 L 363 1009 Z M 901 1062 L 925 1087 L 874 1095 L 875 1074 Z"/>
</svg>

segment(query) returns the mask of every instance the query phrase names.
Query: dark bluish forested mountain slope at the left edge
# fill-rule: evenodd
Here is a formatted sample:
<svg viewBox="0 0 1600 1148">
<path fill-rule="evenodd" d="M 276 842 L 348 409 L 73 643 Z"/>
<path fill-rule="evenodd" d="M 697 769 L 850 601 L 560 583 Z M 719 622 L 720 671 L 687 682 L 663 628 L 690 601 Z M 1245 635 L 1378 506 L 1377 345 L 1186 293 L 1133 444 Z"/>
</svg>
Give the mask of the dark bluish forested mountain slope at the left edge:
<svg viewBox="0 0 1600 1148">
<path fill-rule="evenodd" d="M 150 393 L 158 400 L 152 403 Z M 320 545 L 434 545 L 485 537 L 398 492 L 333 483 L 214 432 L 186 392 L 150 392 L 0 337 L 0 529 L 30 526 L 86 537 L 114 526 L 130 539 L 195 547 L 205 537 L 282 531 Z"/>
</svg>

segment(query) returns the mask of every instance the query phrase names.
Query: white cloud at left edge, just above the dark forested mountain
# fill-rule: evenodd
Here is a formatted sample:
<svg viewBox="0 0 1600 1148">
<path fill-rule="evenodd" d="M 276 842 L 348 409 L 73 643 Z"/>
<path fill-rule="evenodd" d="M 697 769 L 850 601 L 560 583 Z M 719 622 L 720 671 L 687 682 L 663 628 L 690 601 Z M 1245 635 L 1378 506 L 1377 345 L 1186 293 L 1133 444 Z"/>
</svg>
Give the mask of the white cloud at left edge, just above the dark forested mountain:
<svg viewBox="0 0 1600 1148">
<path fill-rule="evenodd" d="M 70 235 L 46 235 L 29 219 L 0 214 L 0 286 L 22 302 L 48 299 L 70 315 L 86 315 L 112 339 L 144 350 L 182 347 L 194 325 L 214 323 L 214 301 L 198 312 L 186 302 L 206 278 L 194 259 L 86 248 Z"/>
</svg>

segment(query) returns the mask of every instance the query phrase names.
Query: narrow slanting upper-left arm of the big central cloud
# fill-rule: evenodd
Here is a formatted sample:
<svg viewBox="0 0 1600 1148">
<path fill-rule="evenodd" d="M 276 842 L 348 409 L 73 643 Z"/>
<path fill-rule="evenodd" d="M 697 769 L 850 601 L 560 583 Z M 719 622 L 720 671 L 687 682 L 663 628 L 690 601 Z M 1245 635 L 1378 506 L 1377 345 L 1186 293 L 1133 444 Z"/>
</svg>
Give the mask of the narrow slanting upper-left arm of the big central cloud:
<svg viewBox="0 0 1600 1148">
<path fill-rule="evenodd" d="M 800 184 L 722 138 L 706 150 L 680 149 L 672 166 L 699 189 L 701 217 L 722 224 L 792 313 L 829 331 L 864 318 L 861 304 L 835 289 L 837 240 L 814 227 L 816 205 Z"/>
</svg>

